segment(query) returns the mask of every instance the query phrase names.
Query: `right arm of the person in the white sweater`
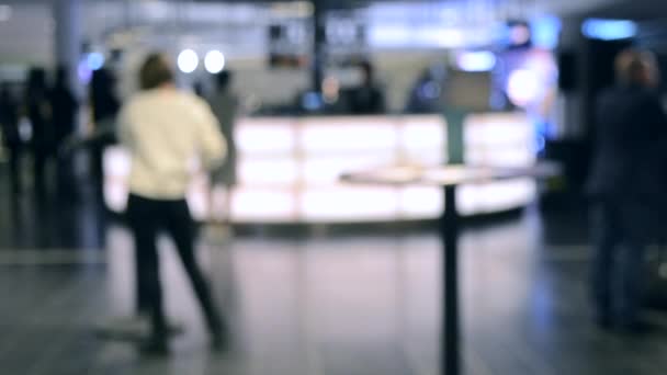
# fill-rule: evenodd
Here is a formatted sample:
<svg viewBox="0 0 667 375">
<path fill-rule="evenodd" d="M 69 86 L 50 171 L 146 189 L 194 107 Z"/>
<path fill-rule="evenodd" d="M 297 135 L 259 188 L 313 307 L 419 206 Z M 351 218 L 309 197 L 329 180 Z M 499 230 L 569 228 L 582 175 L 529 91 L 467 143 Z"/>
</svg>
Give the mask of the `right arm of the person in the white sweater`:
<svg viewBox="0 0 667 375">
<path fill-rule="evenodd" d="M 211 106 L 202 102 L 199 122 L 197 140 L 202 163 L 208 170 L 218 168 L 225 161 L 227 144 L 221 132 L 221 125 L 211 111 Z"/>
</svg>

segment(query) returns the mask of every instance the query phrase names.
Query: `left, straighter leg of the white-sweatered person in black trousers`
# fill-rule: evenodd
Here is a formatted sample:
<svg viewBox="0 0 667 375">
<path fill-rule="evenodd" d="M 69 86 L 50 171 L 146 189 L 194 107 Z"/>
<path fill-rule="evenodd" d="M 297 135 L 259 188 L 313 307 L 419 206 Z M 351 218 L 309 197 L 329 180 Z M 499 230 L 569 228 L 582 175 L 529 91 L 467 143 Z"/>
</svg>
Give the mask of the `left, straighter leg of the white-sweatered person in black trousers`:
<svg viewBox="0 0 667 375">
<path fill-rule="evenodd" d="M 161 213 L 159 203 L 134 195 L 127 203 L 127 216 L 134 234 L 137 262 L 137 276 L 140 277 L 145 298 L 151 320 L 149 350 L 165 351 L 167 345 L 167 327 L 162 307 L 162 288 L 160 285 L 159 259 L 156 247 L 158 218 Z"/>
</svg>

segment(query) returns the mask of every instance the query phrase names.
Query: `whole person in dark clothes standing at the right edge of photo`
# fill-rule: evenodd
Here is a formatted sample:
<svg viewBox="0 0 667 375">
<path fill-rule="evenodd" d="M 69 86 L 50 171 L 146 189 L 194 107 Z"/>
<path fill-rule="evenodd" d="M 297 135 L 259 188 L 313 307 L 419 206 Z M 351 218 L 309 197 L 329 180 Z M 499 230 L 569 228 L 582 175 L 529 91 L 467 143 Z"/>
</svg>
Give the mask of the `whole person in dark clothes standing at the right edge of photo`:
<svg viewBox="0 0 667 375">
<path fill-rule="evenodd" d="M 654 88 L 655 58 L 624 50 L 615 60 L 618 86 L 596 109 L 595 146 L 587 190 L 592 198 L 592 293 L 602 328 L 636 331 L 644 249 L 659 232 L 667 191 L 667 116 Z"/>
</svg>

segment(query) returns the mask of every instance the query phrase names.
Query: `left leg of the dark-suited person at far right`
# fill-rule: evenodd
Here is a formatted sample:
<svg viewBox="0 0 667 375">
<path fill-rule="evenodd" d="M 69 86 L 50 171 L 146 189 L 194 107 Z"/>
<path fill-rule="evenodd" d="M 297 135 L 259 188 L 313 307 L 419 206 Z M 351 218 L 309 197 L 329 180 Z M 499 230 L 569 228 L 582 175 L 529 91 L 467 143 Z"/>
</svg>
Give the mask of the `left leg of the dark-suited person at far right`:
<svg viewBox="0 0 667 375">
<path fill-rule="evenodd" d="M 614 221 L 613 209 L 608 204 L 599 204 L 592 208 L 591 286 L 596 319 L 602 327 L 610 326 L 612 319 L 613 258 L 618 245 L 618 228 Z"/>
</svg>

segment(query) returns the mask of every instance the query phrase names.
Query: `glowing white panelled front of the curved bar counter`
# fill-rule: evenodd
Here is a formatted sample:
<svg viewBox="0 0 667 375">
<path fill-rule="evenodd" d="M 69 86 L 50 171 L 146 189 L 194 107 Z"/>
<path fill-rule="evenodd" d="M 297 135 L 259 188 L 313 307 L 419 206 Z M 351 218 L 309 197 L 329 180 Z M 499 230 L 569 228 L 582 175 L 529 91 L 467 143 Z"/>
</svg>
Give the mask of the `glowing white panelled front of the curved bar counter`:
<svg viewBox="0 0 667 375">
<path fill-rule="evenodd" d="M 238 121 L 239 184 L 230 195 L 235 223 L 359 223 L 437 218 L 439 188 L 358 186 L 339 182 L 343 172 L 388 164 L 438 164 L 446 159 L 441 116 L 252 117 Z M 525 115 L 470 116 L 464 125 L 467 163 L 524 167 L 534 163 L 533 130 Z M 108 206 L 127 201 L 127 152 L 104 155 Z M 195 174 L 189 202 L 197 219 L 208 209 L 208 182 Z M 461 186 L 462 215 L 519 208 L 535 198 L 532 179 Z M 213 214 L 216 208 L 213 208 Z"/>
</svg>

